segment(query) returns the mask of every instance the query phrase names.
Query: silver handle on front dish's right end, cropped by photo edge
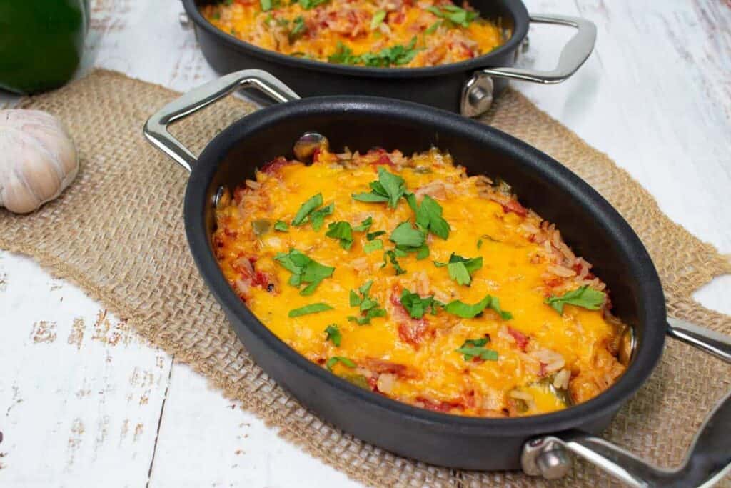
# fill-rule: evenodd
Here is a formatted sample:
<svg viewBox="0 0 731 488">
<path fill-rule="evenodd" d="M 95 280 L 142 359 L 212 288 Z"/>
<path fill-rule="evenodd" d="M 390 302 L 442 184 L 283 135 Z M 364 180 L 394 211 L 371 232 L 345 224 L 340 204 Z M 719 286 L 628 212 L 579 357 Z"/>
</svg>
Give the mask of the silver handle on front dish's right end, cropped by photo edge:
<svg viewBox="0 0 731 488">
<path fill-rule="evenodd" d="M 667 319 L 667 334 L 731 364 L 731 337 Z M 711 487 L 731 471 L 731 392 L 705 418 L 683 464 L 658 468 L 594 435 L 571 430 L 529 440 L 520 462 L 531 476 L 553 479 L 571 467 L 567 451 L 586 459 L 631 487 Z"/>
</svg>

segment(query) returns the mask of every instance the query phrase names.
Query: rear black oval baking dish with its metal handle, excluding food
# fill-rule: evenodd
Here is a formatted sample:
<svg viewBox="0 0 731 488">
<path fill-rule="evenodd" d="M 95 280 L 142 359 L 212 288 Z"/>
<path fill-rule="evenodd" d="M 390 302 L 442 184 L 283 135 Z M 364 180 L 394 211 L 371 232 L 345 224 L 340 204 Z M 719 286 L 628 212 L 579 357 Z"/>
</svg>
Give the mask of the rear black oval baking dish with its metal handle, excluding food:
<svg viewBox="0 0 731 488">
<path fill-rule="evenodd" d="M 362 94 L 423 103 L 477 116 L 490 107 L 493 94 L 507 80 L 558 83 L 569 78 L 591 54 L 596 27 L 582 18 L 529 15 L 520 0 L 473 0 L 483 18 L 499 19 L 507 41 L 484 56 L 460 63 L 422 68 L 346 66 L 287 56 L 258 48 L 213 26 L 200 14 L 207 0 L 183 0 L 203 56 L 221 74 L 245 68 L 265 70 L 302 97 Z M 564 46 L 558 66 L 550 72 L 513 68 L 530 23 L 569 26 L 577 33 Z"/>
</svg>

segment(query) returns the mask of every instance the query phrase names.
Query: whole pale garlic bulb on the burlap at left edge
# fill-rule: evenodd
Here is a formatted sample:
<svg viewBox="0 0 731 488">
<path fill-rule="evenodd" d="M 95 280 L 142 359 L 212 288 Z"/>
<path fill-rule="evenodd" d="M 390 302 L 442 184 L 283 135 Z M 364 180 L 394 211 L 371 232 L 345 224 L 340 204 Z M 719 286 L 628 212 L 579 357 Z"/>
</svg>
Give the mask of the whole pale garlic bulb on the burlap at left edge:
<svg viewBox="0 0 731 488">
<path fill-rule="evenodd" d="M 61 195 L 78 169 L 74 142 L 50 113 L 0 110 L 0 206 L 34 211 Z"/>
</svg>

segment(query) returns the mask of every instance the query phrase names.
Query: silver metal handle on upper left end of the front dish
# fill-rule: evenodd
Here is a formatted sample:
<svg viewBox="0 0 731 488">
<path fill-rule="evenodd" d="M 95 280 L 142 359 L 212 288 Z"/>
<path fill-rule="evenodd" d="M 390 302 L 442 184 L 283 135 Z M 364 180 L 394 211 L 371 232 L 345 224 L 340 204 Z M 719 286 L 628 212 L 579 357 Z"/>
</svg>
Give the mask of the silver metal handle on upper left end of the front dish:
<svg viewBox="0 0 731 488">
<path fill-rule="evenodd" d="M 251 88 L 268 95 L 280 103 L 299 100 L 298 94 L 268 72 L 262 70 L 241 70 L 222 76 L 197 89 L 189 91 L 177 100 L 168 103 L 145 123 L 143 134 L 153 146 L 167 154 L 186 170 L 191 171 L 197 157 L 186 146 L 175 139 L 167 126 L 183 119 L 211 103 L 221 100 L 238 89 Z"/>
</svg>

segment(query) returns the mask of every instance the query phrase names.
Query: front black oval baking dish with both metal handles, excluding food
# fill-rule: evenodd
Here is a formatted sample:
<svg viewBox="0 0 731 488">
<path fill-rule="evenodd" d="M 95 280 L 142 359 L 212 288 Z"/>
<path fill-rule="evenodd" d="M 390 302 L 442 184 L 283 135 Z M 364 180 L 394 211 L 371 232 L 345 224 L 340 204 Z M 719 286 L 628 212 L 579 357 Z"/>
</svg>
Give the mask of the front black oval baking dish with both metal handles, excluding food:
<svg viewBox="0 0 731 488">
<path fill-rule="evenodd" d="M 200 157 L 167 132 L 171 122 L 245 87 L 281 104 L 235 122 Z M 624 375 L 598 397 L 556 413 L 467 418 L 357 388 L 289 348 L 224 279 L 211 244 L 213 212 L 221 187 L 232 189 L 252 178 L 257 164 L 282 154 L 291 157 L 292 142 L 311 131 L 327 135 L 333 148 L 381 146 L 408 154 L 436 146 L 450 151 L 470 174 L 508 181 L 522 203 L 556 222 L 567 244 L 594 263 L 596 274 L 612 290 L 616 315 L 634 330 L 632 360 Z M 694 455 L 679 470 L 659 470 L 594 437 L 651 374 L 666 333 L 727 361 L 731 341 L 679 321 L 669 325 L 659 278 L 635 232 L 594 189 L 546 154 L 491 127 L 423 105 L 375 97 L 298 100 L 287 86 L 258 70 L 232 73 L 183 95 L 152 116 L 144 132 L 154 146 L 192 170 L 185 195 L 186 234 L 202 277 L 238 337 L 271 378 L 325 421 L 397 454 L 470 470 L 523 468 L 556 477 L 567 470 L 567 450 L 637 483 L 667 481 L 670 475 L 698 481 L 719 476 L 731 465 L 728 397 L 708 422 L 713 429 L 702 431 Z"/>
</svg>

